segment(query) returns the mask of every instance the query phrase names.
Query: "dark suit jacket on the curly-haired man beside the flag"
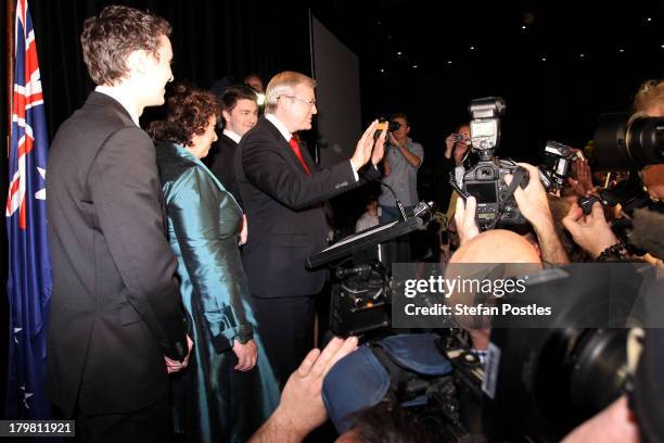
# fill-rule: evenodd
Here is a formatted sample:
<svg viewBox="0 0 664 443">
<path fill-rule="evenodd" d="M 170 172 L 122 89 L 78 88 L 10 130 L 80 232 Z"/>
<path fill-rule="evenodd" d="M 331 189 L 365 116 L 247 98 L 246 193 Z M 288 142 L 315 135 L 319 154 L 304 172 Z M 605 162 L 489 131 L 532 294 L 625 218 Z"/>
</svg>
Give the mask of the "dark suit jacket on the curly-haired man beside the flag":
<svg viewBox="0 0 664 443">
<path fill-rule="evenodd" d="M 92 92 L 49 154 L 51 400 L 67 416 L 125 413 L 168 394 L 164 355 L 187 353 L 154 144 Z"/>
</svg>

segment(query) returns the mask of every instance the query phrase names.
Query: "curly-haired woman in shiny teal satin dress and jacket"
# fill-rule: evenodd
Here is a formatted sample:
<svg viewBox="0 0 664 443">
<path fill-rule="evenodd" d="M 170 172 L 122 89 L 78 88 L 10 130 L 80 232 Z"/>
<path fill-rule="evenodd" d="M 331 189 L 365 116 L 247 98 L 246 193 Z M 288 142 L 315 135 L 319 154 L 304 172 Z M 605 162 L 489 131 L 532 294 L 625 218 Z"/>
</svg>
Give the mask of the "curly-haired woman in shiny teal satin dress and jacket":
<svg viewBox="0 0 664 443">
<path fill-rule="evenodd" d="M 184 378 L 174 387 L 174 421 L 176 431 L 187 423 L 192 442 L 243 442 L 277 407 L 279 385 L 247 302 L 238 246 L 242 210 L 201 162 L 217 139 L 217 99 L 175 89 L 167 118 L 149 129 L 157 140 L 168 235 L 194 342 Z"/>
</svg>

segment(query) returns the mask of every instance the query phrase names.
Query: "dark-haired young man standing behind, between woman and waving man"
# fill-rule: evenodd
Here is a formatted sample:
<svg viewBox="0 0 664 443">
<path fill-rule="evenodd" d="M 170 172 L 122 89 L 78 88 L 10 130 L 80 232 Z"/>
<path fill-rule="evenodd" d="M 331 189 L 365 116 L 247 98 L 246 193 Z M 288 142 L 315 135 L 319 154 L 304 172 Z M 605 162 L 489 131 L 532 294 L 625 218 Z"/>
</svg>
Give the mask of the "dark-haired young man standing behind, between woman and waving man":
<svg viewBox="0 0 664 443">
<path fill-rule="evenodd" d="M 258 103 L 256 92 L 246 85 L 229 86 L 221 94 L 221 116 L 224 131 L 219 140 L 213 144 L 205 163 L 217 176 L 221 185 L 233 194 L 242 206 L 242 197 L 235 179 L 233 157 L 240 139 L 258 121 Z"/>
</svg>

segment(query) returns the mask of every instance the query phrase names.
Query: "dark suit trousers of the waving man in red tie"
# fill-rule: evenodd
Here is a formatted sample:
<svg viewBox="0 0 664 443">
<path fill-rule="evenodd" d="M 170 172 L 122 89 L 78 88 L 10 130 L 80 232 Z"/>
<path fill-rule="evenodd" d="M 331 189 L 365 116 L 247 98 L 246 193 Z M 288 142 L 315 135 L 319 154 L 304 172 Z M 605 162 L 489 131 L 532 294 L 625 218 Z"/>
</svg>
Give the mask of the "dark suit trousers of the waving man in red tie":
<svg viewBox="0 0 664 443">
<path fill-rule="evenodd" d="M 260 339 L 283 389 L 314 346 L 314 296 L 265 299 L 252 295 L 252 305 Z"/>
</svg>

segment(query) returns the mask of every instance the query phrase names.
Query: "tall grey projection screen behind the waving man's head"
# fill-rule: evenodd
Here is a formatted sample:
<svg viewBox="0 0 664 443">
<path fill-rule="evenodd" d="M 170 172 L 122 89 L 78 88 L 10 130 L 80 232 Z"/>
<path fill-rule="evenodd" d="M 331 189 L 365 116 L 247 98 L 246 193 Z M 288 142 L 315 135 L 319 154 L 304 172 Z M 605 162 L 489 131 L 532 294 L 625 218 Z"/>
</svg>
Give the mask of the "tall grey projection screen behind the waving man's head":
<svg viewBox="0 0 664 443">
<path fill-rule="evenodd" d="M 323 167 L 350 157 L 362 134 L 359 61 L 314 15 L 311 72 L 316 78 L 318 153 Z"/>
</svg>

